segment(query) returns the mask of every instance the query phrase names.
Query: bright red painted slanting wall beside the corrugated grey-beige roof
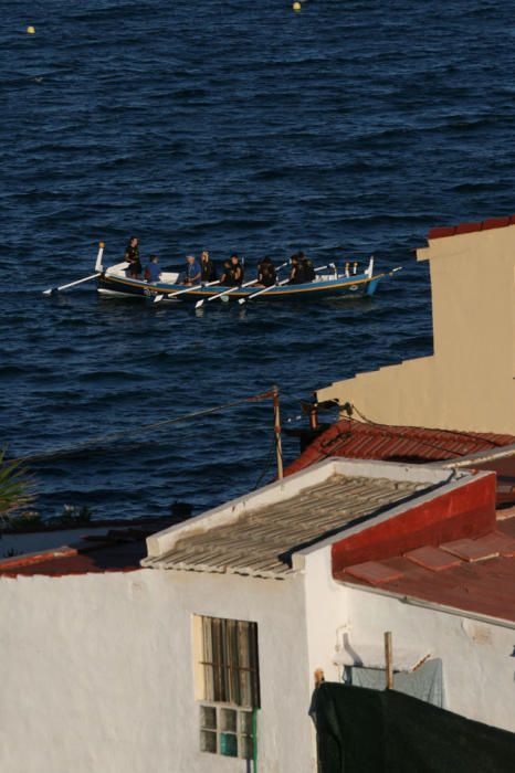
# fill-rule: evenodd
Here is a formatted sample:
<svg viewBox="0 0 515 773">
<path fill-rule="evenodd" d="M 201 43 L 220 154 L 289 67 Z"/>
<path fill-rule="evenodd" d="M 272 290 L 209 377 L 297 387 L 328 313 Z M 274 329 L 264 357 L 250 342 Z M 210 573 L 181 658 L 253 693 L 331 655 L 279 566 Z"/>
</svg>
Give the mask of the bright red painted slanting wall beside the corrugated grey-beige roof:
<svg viewBox="0 0 515 773">
<path fill-rule="evenodd" d="M 365 561 L 401 555 L 424 544 L 482 537 L 495 529 L 495 473 L 413 505 L 399 516 L 335 542 L 333 574 Z"/>
</svg>

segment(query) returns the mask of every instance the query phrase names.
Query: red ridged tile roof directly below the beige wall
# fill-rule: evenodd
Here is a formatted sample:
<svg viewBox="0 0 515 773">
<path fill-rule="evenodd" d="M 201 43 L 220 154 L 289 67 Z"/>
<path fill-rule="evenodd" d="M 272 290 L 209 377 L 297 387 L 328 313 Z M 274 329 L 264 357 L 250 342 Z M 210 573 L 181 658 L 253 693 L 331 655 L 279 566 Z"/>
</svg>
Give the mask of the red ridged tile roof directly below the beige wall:
<svg viewBox="0 0 515 773">
<path fill-rule="evenodd" d="M 318 435 L 284 474 L 298 473 L 329 456 L 422 464 L 461 458 L 513 444 L 515 444 L 513 435 L 367 424 L 353 419 L 343 419 Z M 513 467 L 513 475 L 515 475 L 515 457 L 512 457 L 512 460 L 473 466 L 481 469 L 498 468 L 501 473 L 498 499 L 511 501 L 509 491 L 504 489 L 509 483 L 509 480 L 506 483 L 509 477 L 508 469 Z M 515 478 L 512 483 L 515 484 Z"/>
</svg>

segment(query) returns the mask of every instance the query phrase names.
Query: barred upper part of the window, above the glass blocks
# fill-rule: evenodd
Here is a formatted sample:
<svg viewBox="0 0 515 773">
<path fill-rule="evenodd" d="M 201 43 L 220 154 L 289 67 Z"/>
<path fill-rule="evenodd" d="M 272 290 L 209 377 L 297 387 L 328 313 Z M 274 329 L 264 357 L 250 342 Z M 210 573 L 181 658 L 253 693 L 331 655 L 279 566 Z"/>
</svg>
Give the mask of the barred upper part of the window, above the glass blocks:
<svg viewBox="0 0 515 773">
<path fill-rule="evenodd" d="M 203 700 L 260 707 L 258 624 L 201 617 Z"/>
</svg>

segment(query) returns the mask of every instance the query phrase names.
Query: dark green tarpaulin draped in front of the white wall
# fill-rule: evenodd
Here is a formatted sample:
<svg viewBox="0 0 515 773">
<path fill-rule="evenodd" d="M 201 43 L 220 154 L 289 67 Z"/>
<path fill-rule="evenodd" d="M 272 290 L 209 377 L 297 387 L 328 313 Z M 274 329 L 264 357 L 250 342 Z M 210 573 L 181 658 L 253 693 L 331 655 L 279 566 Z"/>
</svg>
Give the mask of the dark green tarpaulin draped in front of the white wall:
<svg viewBox="0 0 515 773">
<path fill-rule="evenodd" d="M 396 690 L 316 690 L 320 773 L 514 773 L 515 734 Z"/>
</svg>

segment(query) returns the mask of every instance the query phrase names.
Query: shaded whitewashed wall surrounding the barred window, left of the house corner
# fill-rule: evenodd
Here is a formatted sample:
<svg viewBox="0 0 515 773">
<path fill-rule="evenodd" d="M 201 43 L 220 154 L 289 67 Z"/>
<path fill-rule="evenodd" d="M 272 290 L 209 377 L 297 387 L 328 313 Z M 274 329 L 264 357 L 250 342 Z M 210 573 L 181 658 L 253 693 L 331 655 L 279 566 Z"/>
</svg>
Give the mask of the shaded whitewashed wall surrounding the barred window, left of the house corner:
<svg viewBox="0 0 515 773">
<path fill-rule="evenodd" d="M 259 626 L 260 773 L 311 773 L 303 578 L 0 579 L 2 773 L 235 773 L 199 751 L 192 615 Z"/>
</svg>

